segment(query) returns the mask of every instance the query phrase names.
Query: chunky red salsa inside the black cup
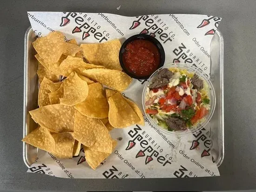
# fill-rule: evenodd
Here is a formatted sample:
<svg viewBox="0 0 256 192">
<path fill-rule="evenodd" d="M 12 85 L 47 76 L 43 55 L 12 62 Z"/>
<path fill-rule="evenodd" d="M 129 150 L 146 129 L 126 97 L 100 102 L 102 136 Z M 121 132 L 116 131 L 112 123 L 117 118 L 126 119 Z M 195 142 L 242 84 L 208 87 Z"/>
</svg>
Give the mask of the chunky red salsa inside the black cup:
<svg viewBox="0 0 256 192">
<path fill-rule="evenodd" d="M 133 40 L 125 47 L 122 60 L 130 73 L 143 77 L 155 72 L 160 64 L 160 54 L 151 41 Z"/>
</svg>

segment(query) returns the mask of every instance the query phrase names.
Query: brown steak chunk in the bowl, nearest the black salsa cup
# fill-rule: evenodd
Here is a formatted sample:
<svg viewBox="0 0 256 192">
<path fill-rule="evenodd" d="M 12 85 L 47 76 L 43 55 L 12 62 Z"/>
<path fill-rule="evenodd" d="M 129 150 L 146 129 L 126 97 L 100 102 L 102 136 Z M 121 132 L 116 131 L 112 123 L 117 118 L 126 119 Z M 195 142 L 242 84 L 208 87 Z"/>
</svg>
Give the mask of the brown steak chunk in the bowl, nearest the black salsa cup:
<svg viewBox="0 0 256 192">
<path fill-rule="evenodd" d="M 164 68 L 155 77 L 152 79 L 152 83 L 148 86 L 150 89 L 158 88 L 161 86 L 165 86 L 169 83 L 169 79 L 171 79 L 173 73 L 168 69 Z"/>
</svg>

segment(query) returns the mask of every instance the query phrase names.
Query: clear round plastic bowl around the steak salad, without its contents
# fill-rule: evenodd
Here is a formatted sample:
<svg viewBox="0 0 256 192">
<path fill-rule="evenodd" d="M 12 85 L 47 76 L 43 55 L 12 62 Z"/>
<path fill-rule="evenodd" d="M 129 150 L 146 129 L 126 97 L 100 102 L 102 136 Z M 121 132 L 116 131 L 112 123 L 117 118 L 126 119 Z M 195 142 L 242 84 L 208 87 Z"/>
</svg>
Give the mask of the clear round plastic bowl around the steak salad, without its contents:
<svg viewBox="0 0 256 192">
<path fill-rule="evenodd" d="M 200 79 L 203 79 L 206 83 L 208 83 L 209 86 L 209 99 L 210 99 L 210 110 L 207 116 L 204 117 L 204 120 L 198 124 L 196 124 L 195 126 L 191 126 L 189 129 L 187 130 L 182 130 L 182 131 L 168 131 L 164 128 L 162 128 L 161 126 L 158 126 L 157 123 L 149 116 L 148 113 L 146 113 L 146 106 L 145 106 L 145 98 L 146 98 L 146 89 L 148 87 L 148 85 L 151 83 L 152 78 L 159 72 L 161 71 L 163 68 L 170 68 L 170 67 L 177 67 L 179 69 L 186 69 L 188 72 L 192 72 L 197 74 Z M 149 122 L 154 125 L 156 128 L 158 128 L 159 130 L 161 130 L 162 132 L 168 134 L 168 135 L 187 135 L 189 133 L 194 133 L 194 132 L 198 132 L 200 131 L 204 126 L 206 126 L 206 124 L 209 123 L 214 109 L 215 109 L 215 105 L 216 105 L 216 96 L 215 96 L 215 91 L 213 88 L 213 85 L 210 81 L 210 79 L 207 77 L 207 75 L 205 73 L 203 73 L 199 68 L 192 66 L 192 65 L 188 65 L 188 64 L 183 64 L 183 63 L 172 63 L 172 64 L 168 64 L 168 65 L 164 65 L 161 68 L 159 68 L 158 70 L 156 70 L 148 79 L 146 85 L 144 86 L 143 92 L 142 92 L 142 106 L 143 106 L 143 111 L 146 115 L 146 117 L 148 118 Z"/>
</svg>

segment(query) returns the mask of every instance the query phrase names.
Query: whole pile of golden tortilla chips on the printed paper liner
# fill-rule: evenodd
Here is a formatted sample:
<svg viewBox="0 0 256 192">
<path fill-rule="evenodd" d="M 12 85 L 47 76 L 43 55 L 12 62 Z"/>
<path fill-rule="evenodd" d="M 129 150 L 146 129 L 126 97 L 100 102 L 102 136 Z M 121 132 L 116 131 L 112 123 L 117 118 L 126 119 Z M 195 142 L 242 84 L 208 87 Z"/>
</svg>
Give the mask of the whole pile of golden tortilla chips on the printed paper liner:
<svg viewBox="0 0 256 192">
<path fill-rule="evenodd" d="M 29 113 L 39 127 L 22 141 L 63 159 L 79 155 L 83 146 L 95 169 L 117 144 L 109 133 L 113 128 L 144 125 L 139 107 L 120 93 L 132 81 L 121 72 L 120 41 L 78 46 L 52 32 L 33 46 L 39 61 L 39 108 Z"/>
</svg>

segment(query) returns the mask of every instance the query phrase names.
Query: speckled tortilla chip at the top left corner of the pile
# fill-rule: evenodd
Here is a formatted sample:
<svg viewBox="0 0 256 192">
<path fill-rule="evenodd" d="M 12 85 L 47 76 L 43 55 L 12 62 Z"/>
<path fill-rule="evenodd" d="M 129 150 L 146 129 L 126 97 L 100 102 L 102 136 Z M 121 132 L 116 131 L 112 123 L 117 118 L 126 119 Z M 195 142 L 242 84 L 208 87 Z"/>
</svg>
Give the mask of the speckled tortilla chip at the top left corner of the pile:
<svg viewBox="0 0 256 192">
<path fill-rule="evenodd" d="M 60 32 L 51 32 L 46 37 L 37 38 L 33 42 L 36 52 L 41 58 L 55 63 L 65 50 L 64 35 Z"/>
</svg>

